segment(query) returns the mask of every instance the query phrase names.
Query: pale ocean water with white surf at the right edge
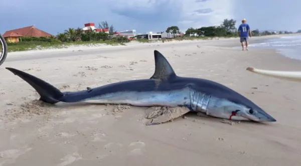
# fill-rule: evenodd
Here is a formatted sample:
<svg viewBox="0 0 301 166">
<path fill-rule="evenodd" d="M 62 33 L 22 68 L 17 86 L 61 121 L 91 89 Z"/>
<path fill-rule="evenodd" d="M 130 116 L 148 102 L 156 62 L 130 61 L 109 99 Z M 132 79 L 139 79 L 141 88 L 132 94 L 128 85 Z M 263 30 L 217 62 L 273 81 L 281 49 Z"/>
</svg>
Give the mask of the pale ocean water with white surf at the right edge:
<svg viewBox="0 0 301 166">
<path fill-rule="evenodd" d="M 280 38 L 263 40 L 261 43 L 256 44 L 252 44 L 252 41 L 250 41 L 249 49 L 253 48 L 275 49 L 283 56 L 301 60 L 301 35 L 282 36 Z"/>
</svg>

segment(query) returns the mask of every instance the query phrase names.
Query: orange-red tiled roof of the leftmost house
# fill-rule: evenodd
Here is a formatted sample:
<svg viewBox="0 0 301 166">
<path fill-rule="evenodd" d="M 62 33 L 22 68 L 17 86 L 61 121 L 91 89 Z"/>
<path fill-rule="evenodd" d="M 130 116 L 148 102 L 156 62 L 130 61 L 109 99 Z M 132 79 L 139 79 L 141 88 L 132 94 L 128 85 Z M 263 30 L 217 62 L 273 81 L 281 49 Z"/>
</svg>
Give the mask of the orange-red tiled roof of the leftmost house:
<svg viewBox="0 0 301 166">
<path fill-rule="evenodd" d="M 41 31 L 34 26 L 19 28 L 11 31 L 7 31 L 4 33 L 3 37 L 11 37 L 12 33 L 16 33 L 18 35 L 26 36 L 26 37 L 50 37 L 51 34 Z"/>
</svg>

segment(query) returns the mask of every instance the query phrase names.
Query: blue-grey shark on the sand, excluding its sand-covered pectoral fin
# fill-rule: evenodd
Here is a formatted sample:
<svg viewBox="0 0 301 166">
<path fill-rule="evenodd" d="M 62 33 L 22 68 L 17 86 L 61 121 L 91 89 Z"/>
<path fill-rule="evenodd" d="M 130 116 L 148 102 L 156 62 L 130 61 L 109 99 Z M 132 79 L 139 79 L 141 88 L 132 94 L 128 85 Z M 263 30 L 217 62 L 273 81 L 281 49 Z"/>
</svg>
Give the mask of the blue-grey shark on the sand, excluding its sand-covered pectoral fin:
<svg viewBox="0 0 301 166">
<path fill-rule="evenodd" d="M 40 100 L 57 102 L 88 102 L 129 104 L 133 106 L 185 106 L 190 111 L 207 115 L 257 122 L 274 122 L 272 116 L 234 90 L 214 81 L 177 76 L 167 59 L 157 50 L 155 73 L 149 79 L 129 80 L 61 92 L 49 83 L 23 71 L 6 68 L 28 82 L 40 94 Z"/>
</svg>

